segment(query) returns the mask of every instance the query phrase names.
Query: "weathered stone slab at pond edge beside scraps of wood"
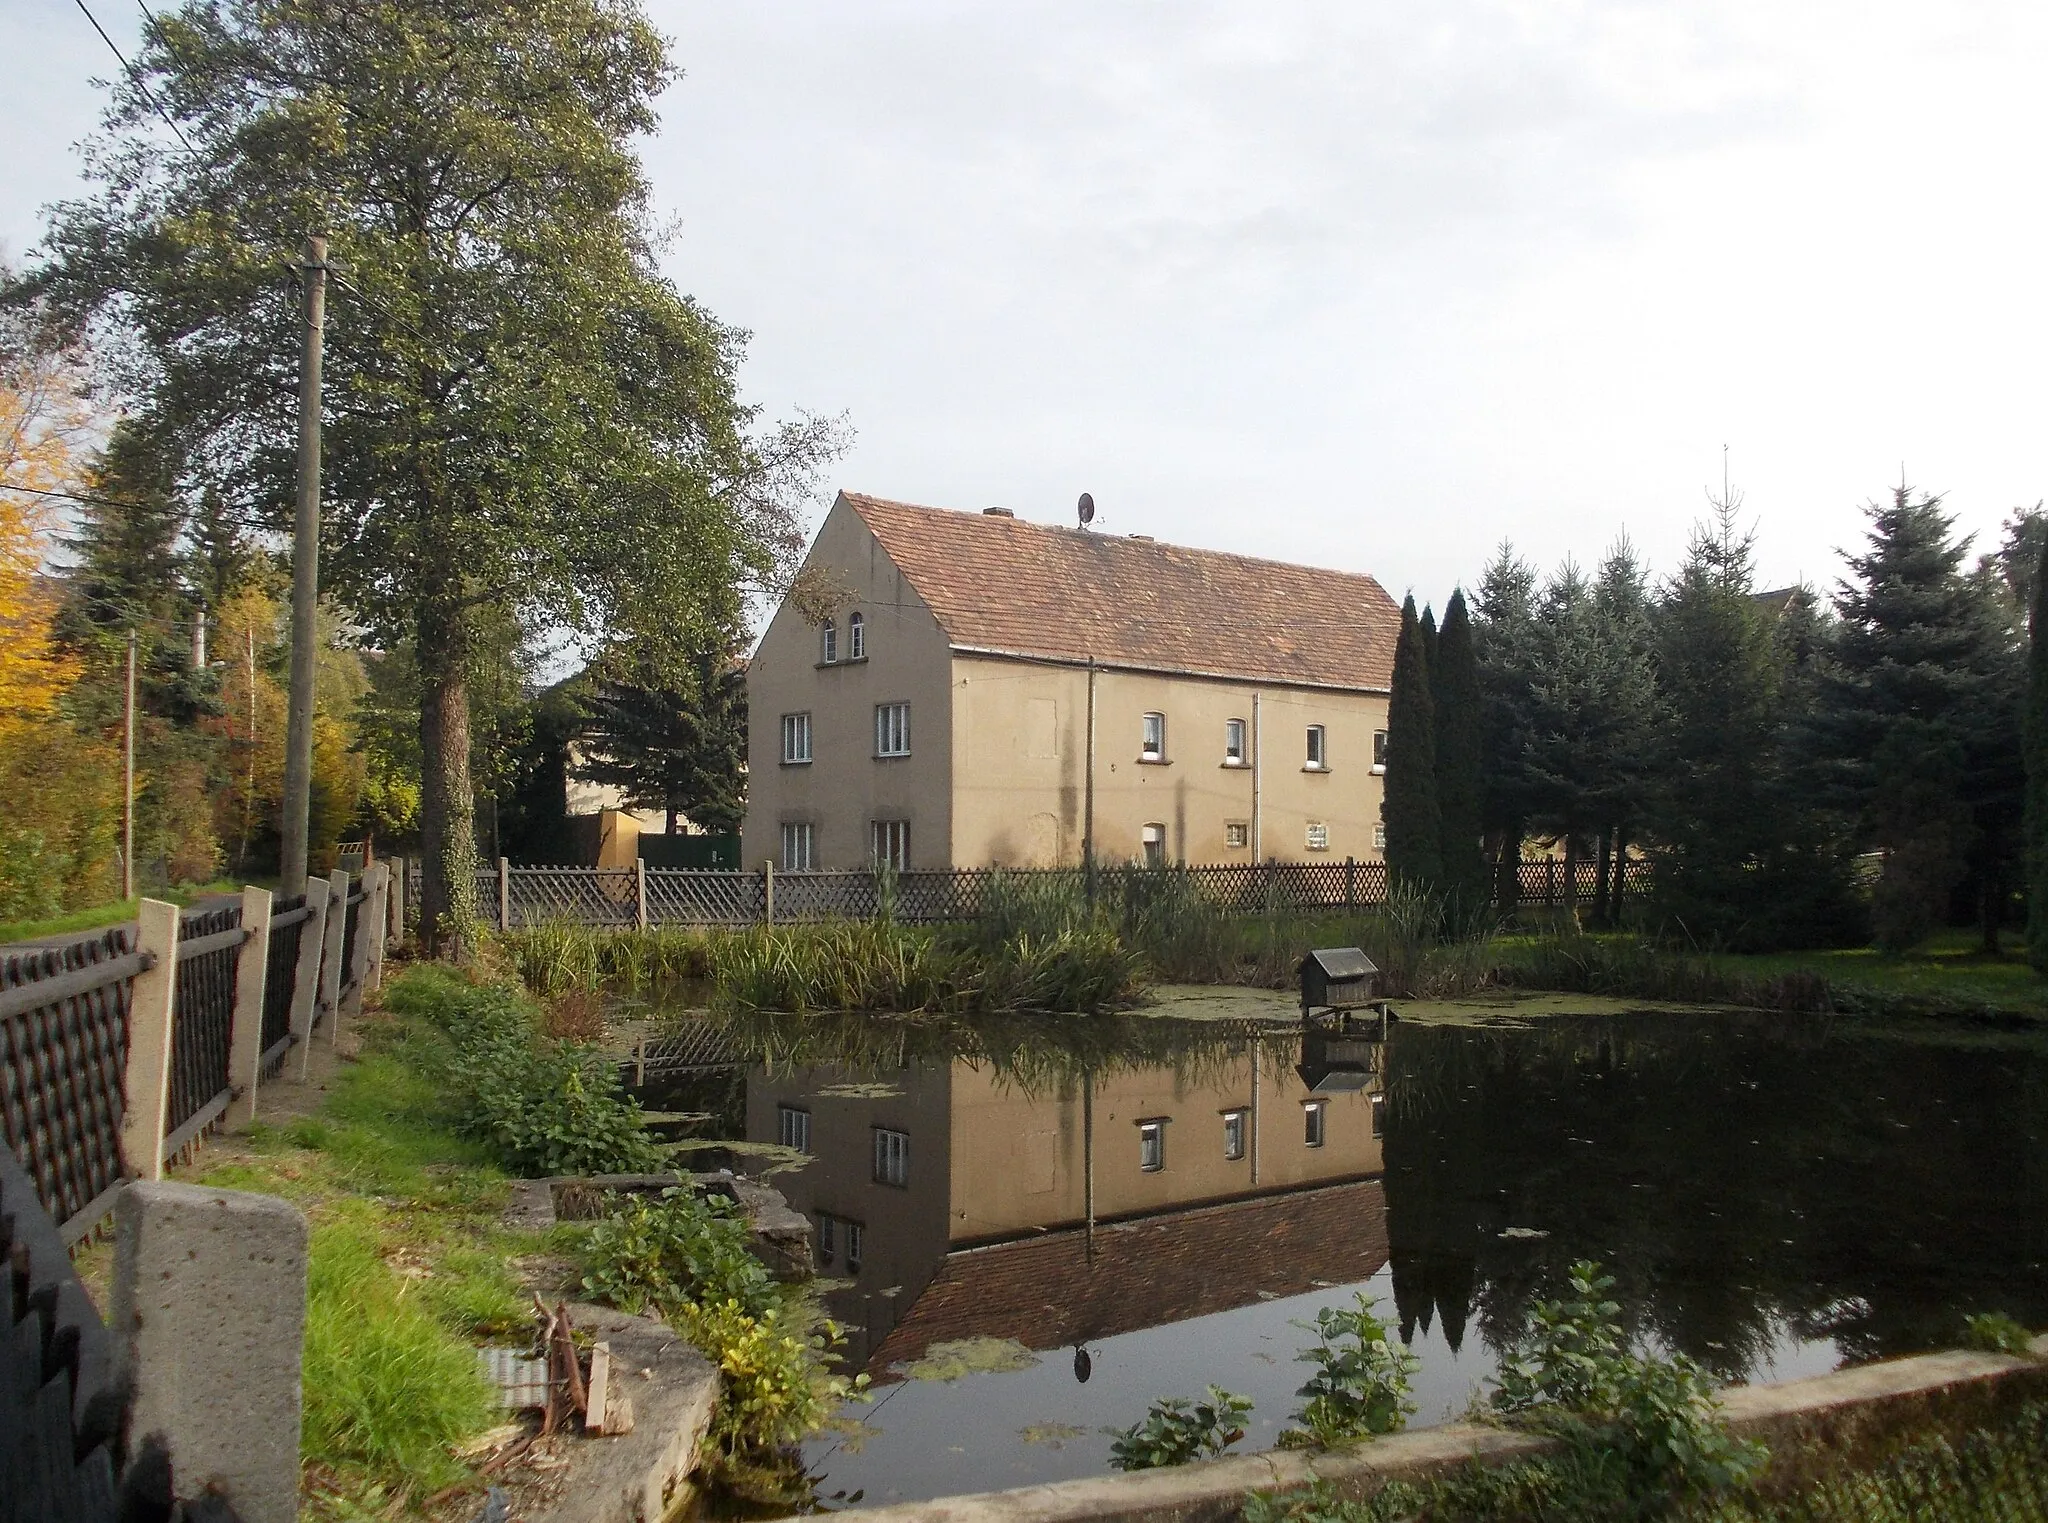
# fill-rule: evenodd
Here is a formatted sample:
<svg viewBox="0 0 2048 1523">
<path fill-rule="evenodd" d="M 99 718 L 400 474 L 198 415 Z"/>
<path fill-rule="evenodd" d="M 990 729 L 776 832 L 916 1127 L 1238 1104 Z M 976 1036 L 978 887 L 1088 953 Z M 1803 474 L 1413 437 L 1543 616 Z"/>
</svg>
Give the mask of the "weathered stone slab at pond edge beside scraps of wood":
<svg viewBox="0 0 2048 1523">
<path fill-rule="evenodd" d="M 610 1382 L 633 1402 L 633 1431 L 569 1445 L 561 1494 L 530 1523 L 659 1523 L 696 1470 L 719 1372 L 668 1322 L 582 1302 L 569 1304 L 569 1320 L 610 1345 Z"/>
</svg>

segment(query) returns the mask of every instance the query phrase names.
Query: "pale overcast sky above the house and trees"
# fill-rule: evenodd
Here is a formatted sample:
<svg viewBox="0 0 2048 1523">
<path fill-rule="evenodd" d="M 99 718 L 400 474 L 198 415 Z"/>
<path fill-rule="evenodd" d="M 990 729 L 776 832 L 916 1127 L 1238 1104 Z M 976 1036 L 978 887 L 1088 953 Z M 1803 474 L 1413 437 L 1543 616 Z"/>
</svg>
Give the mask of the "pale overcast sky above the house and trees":
<svg viewBox="0 0 2048 1523">
<path fill-rule="evenodd" d="M 133 4 L 88 0 L 129 47 Z M 662 0 L 676 280 L 838 485 L 1374 573 L 1667 569 L 1722 444 L 1765 581 L 1860 504 L 2048 495 L 2048 6 Z M 0 0 L 0 242 L 117 66 Z"/>
</svg>

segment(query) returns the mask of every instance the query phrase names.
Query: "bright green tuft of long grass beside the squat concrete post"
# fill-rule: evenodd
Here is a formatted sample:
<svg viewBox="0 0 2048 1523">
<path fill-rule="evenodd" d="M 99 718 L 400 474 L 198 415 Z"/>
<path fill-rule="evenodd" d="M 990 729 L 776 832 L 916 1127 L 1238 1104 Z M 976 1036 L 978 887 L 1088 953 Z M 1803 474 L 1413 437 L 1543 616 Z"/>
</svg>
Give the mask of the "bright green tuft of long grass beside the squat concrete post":
<svg viewBox="0 0 2048 1523">
<path fill-rule="evenodd" d="M 475 1349 L 403 1294 L 354 1222 L 313 1230 L 303 1384 L 307 1460 L 406 1474 L 424 1490 L 459 1480 L 449 1445 L 498 1417 Z"/>
</svg>

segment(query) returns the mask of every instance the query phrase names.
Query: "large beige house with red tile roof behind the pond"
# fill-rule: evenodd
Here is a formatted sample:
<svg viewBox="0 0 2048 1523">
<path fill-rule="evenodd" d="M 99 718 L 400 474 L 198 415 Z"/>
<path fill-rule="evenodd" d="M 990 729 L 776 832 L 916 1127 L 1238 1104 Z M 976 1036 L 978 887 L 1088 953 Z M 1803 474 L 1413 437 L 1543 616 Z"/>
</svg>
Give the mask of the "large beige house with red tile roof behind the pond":
<svg viewBox="0 0 2048 1523">
<path fill-rule="evenodd" d="M 842 491 L 748 671 L 743 862 L 1376 860 L 1378 581 Z"/>
</svg>

